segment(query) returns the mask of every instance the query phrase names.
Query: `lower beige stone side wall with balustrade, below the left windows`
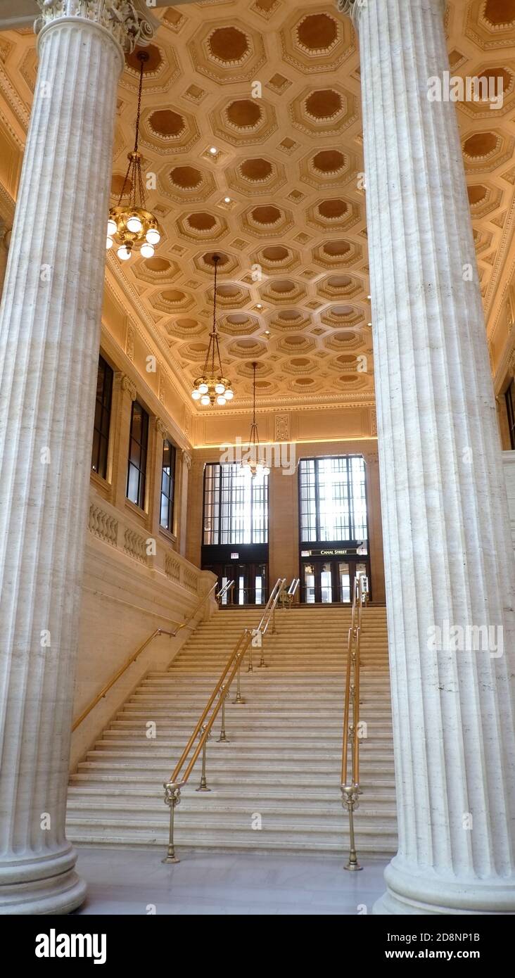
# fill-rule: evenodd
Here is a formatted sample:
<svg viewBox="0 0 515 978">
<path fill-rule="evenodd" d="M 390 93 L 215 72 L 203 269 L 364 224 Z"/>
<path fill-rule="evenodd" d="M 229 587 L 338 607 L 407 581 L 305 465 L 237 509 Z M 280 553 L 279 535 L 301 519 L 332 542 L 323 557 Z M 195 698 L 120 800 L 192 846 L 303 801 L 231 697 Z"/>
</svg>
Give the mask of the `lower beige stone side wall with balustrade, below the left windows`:
<svg viewBox="0 0 515 978">
<path fill-rule="evenodd" d="M 74 722 L 155 629 L 176 631 L 215 583 L 212 574 L 198 570 L 165 541 L 157 541 L 156 555 L 147 556 L 139 536 L 132 514 L 117 511 L 92 491 Z M 206 600 L 192 628 L 216 610 L 216 603 Z M 71 770 L 145 673 L 166 668 L 190 634 L 188 627 L 180 629 L 177 638 L 156 637 L 129 666 L 73 732 Z"/>
</svg>

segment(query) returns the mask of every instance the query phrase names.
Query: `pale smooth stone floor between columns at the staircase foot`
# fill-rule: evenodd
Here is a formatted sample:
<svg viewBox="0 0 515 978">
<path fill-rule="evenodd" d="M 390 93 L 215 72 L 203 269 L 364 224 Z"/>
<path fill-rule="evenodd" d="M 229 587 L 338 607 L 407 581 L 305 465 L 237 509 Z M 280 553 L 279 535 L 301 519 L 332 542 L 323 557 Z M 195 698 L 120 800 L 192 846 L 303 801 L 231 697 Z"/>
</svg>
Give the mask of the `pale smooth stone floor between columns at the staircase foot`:
<svg viewBox="0 0 515 978">
<path fill-rule="evenodd" d="M 345 872 L 334 857 L 182 851 L 163 866 L 154 847 L 77 849 L 88 883 L 77 913 L 357 914 L 384 892 L 383 861 Z"/>
</svg>

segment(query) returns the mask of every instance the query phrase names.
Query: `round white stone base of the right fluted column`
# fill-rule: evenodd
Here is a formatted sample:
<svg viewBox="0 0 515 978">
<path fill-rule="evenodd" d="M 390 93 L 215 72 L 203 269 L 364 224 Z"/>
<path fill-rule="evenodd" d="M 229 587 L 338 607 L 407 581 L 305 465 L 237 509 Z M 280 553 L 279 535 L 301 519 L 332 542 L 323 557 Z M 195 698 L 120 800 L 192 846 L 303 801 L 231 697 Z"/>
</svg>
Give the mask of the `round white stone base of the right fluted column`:
<svg viewBox="0 0 515 978">
<path fill-rule="evenodd" d="M 375 915 L 515 914 L 515 876 L 458 880 L 431 867 L 396 866 L 394 860 L 384 878 L 387 890 L 373 905 Z"/>
</svg>

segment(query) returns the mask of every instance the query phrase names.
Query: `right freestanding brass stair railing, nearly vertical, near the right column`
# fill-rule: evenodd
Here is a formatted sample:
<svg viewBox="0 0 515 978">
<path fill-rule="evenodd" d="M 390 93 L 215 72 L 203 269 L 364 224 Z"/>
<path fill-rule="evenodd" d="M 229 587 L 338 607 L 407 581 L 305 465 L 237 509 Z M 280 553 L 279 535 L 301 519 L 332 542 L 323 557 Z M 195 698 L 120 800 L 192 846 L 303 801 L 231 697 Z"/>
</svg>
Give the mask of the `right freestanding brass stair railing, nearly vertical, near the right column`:
<svg viewBox="0 0 515 978">
<path fill-rule="evenodd" d="M 354 832 L 354 813 L 359 808 L 360 795 L 360 652 L 363 609 L 368 597 L 368 581 L 364 574 L 354 579 L 351 627 L 347 645 L 347 672 L 343 716 L 343 749 L 341 769 L 342 804 L 349 814 L 349 862 L 346 869 L 363 869 L 358 863 Z M 349 777 L 350 775 L 350 777 Z"/>
</svg>

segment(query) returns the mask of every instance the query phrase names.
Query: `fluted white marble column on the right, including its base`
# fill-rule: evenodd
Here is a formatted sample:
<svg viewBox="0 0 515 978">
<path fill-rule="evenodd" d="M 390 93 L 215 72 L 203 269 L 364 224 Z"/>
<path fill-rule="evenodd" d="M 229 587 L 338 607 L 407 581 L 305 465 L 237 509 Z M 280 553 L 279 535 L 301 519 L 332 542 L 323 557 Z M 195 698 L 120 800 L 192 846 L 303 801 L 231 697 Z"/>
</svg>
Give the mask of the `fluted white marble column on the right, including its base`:
<svg viewBox="0 0 515 978">
<path fill-rule="evenodd" d="M 360 35 L 399 810 L 374 911 L 514 912 L 514 561 L 455 111 L 426 95 L 449 70 L 444 2 L 340 7 Z M 492 652 L 446 622 L 492 627 Z"/>
</svg>

